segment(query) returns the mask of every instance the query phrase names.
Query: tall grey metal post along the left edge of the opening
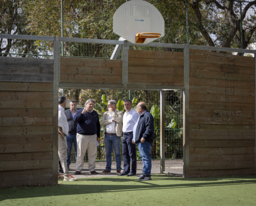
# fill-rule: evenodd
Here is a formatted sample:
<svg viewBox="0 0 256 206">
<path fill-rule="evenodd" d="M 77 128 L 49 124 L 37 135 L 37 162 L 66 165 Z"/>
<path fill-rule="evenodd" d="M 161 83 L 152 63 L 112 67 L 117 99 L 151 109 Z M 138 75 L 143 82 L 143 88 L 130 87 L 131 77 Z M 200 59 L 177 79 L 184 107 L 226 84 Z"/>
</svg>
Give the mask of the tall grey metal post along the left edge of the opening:
<svg viewBox="0 0 256 206">
<path fill-rule="evenodd" d="M 58 37 L 55 37 L 53 42 L 53 59 L 54 59 L 54 74 L 53 74 L 53 166 L 52 166 L 52 182 L 58 183 L 58 82 L 60 80 L 61 69 L 61 47 Z"/>
</svg>

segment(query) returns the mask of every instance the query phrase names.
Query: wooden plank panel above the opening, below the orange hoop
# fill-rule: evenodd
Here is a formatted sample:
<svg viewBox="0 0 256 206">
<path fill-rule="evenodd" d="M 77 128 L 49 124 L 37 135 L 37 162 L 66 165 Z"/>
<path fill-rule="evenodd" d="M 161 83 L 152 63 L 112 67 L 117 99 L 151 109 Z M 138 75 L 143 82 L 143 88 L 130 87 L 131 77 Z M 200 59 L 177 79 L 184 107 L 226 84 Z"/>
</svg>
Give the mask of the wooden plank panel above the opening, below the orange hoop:
<svg viewBox="0 0 256 206">
<path fill-rule="evenodd" d="M 184 85 L 184 53 L 129 49 L 128 83 Z"/>
</svg>

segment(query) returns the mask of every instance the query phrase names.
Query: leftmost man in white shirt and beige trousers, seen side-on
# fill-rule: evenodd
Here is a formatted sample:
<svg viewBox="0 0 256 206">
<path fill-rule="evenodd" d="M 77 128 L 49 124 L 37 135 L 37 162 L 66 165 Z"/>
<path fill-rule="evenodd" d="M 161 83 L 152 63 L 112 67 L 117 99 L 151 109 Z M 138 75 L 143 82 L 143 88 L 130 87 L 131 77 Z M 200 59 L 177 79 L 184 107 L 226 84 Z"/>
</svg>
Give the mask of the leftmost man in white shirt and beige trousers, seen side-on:
<svg viewBox="0 0 256 206">
<path fill-rule="evenodd" d="M 61 161 L 61 165 L 64 171 L 62 179 L 64 181 L 76 181 L 77 178 L 73 178 L 69 171 L 67 165 L 67 139 L 68 134 L 68 122 L 67 117 L 64 113 L 67 107 L 67 99 L 64 96 L 58 97 L 58 157 Z"/>
</svg>

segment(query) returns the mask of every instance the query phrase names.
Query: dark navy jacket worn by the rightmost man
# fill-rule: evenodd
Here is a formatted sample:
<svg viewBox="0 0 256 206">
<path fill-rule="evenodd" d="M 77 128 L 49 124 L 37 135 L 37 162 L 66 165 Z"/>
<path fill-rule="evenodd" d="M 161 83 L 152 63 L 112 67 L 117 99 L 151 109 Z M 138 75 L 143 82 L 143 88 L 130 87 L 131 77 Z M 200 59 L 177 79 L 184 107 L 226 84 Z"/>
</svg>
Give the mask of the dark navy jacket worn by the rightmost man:
<svg viewBox="0 0 256 206">
<path fill-rule="evenodd" d="M 155 139 L 154 132 L 154 117 L 149 111 L 145 111 L 144 114 L 140 116 L 138 120 L 138 125 L 136 128 L 135 143 L 139 143 L 143 137 L 147 142 L 153 143 Z"/>
</svg>

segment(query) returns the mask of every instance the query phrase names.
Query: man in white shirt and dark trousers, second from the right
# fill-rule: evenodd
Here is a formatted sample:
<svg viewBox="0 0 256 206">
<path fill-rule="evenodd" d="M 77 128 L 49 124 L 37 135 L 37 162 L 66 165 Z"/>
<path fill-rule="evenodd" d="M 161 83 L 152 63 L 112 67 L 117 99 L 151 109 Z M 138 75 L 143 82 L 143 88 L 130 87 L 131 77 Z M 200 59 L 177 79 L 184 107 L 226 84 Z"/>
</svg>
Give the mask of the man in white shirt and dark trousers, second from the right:
<svg viewBox="0 0 256 206">
<path fill-rule="evenodd" d="M 132 109 L 132 101 L 126 99 L 124 102 L 125 114 L 123 118 L 123 159 L 124 171 L 118 176 L 134 176 L 137 171 L 136 145 L 132 144 L 133 127 L 138 121 L 139 114 Z M 130 167 L 131 163 L 131 167 Z M 130 169 L 131 168 L 131 169 Z"/>
</svg>

